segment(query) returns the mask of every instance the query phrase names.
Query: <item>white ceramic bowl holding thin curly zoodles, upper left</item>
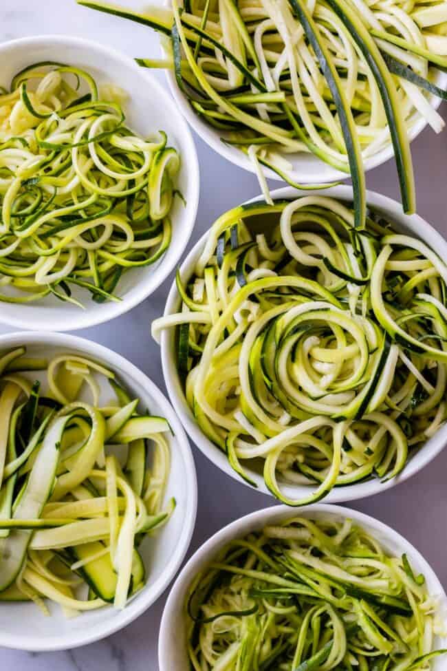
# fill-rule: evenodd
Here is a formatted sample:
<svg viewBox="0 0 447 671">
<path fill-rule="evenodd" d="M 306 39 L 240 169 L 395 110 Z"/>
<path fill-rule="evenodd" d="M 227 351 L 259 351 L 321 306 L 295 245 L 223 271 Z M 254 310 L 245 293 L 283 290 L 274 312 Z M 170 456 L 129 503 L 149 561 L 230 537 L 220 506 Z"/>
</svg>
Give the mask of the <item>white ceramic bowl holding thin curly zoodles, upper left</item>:
<svg viewBox="0 0 447 671">
<path fill-rule="evenodd" d="M 27 37 L 0 45 L 0 85 L 9 88 L 12 76 L 26 65 L 57 61 L 84 68 L 101 84 L 114 83 L 124 89 L 129 100 L 124 105 L 127 123 L 142 136 L 156 136 L 162 129 L 168 142 L 181 157 L 178 187 L 186 199 L 179 198 L 171 213 L 173 236 L 164 256 L 153 266 L 133 268 L 124 273 L 117 295 L 120 303 L 98 304 L 89 292 L 74 288 L 73 295 L 85 306 L 82 310 L 56 297 L 36 303 L 1 303 L 0 321 L 17 328 L 67 331 L 109 321 L 141 303 L 171 273 L 184 253 L 197 214 L 199 165 L 193 138 L 175 102 L 144 68 L 115 50 L 78 37 L 45 35 Z"/>
</svg>

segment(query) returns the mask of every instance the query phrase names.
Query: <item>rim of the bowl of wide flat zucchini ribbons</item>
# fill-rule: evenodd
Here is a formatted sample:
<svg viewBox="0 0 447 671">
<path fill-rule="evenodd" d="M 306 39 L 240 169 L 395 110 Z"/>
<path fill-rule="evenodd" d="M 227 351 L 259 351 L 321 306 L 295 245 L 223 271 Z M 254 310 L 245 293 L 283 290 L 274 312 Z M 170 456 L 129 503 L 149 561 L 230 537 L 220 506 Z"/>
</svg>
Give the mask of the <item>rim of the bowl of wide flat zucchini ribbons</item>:
<svg viewBox="0 0 447 671">
<path fill-rule="evenodd" d="M 48 652 L 53 650 L 71 650 L 79 646 L 85 646 L 87 643 L 99 641 L 114 632 L 130 624 L 136 617 L 142 615 L 154 602 L 162 595 L 168 584 L 181 566 L 190 540 L 195 529 L 195 519 L 197 515 L 197 475 L 195 471 L 195 462 L 193 453 L 184 428 L 168 399 L 160 389 L 140 371 L 133 363 L 128 361 L 113 350 L 99 345 L 87 338 L 81 338 L 72 334 L 55 333 L 48 331 L 26 331 L 13 332 L 0 336 L 0 349 L 3 350 L 17 345 L 49 345 L 63 347 L 69 350 L 80 350 L 87 356 L 98 357 L 107 362 L 113 370 L 119 374 L 127 376 L 137 382 L 153 398 L 160 410 L 168 418 L 175 434 L 176 451 L 184 461 L 184 480 L 186 482 L 186 510 L 184 515 L 184 525 L 182 533 L 177 539 L 175 551 L 169 557 L 166 566 L 155 583 L 149 589 L 144 586 L 140 591 L 142 599 L 134 599 L 123 610 L 120 611 L 111 620 L 98 621 L 89 628 L 77 629 L 63 635 L 54 635 L 45 638 L 45 641 L 39 635 L 17 635 L 8 634 L 0 631 L 0 646 L 6 648 L 15 648 L 16 650 L 28 650 L 29 652 Z"/>
</svg>

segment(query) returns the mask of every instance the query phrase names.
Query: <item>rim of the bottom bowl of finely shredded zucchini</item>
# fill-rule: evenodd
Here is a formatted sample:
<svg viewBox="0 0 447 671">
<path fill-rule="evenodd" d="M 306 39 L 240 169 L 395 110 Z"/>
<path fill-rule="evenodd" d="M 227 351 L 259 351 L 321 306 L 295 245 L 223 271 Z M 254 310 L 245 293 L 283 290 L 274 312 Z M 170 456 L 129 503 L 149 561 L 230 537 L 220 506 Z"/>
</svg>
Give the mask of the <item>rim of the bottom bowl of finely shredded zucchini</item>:
<svg viewBox="0 0 447 671">
<path fill-rule="evenodd" d="M 416 560 L 418 566 L 422 568 L 422 572 L 426 578 L 428 577 L 427 582 L 430 582 L 433 586 L 430 591 L 433 590 L 433 593 L 439 595 L 440 601 L 443 602 L 443 605 L 445 604 L 447 597 L 444 587 L 424 555 L 422 555 L 422 553 L 420 553 L 419 550 L 406 539 L 406 537 L 402 536 L 398 531 L 395 531 L 395 529 L 388 524 L 384 524 L 384 522 L 381 522 L 377 518 L 373 518 L 371 515 L 367 515 L 358 510 L 327 503 L 314 503 L 309 506 L 303 506 L 299 512 L 295 511 L 295 514 L 290 507 L 285 505 L 270 506 L 248 513 L 248 515 L 243 515 L 241 518 L 223 526 L 222 529 L 219 529 L 219 531 L 210 536 L 203 545 L 197 548 L 182 568 L 182 571 L 177 575 L 164 606 L 160 624 L 160 634 L 158 637 L 158 663 L 160 671 L 180 671 L 177 668 L 172 668 L 168 661 L 168 651 L 172 647 L 173 639 L 173 618 L 179 612 L 179 608 L 182 608 L 183 605 L 178 603 L 179 598 L 183 597 L 182 593 L 186 590 L 188 584 L 190 584 L 197 572 L 200 571 L 206 563 L 211 561 L 210 555 L 217 553 L 219 548 L 234 538 L 241 537 L 242 535 L 250 533 L 250 531 L 262 528 L 265 524 L 269 524 L 272 521 L 276 522 L 276 520 L 287 519 L 287 517 L 293 518 L 296 514 L 309 516 L 314 514 L 317 516 L 325 514 L 338 515 L 350 518 L 360 525 L 364 524 L 365 526 L 371 526 L 375 533 L 378 532 L 378 534 L 395 544 L 395 546 L 403 549 L 413 562 Z M 177 639 L 181 637 L 178 630 L 176 630 L 175 635 Z M 446 640 L 443 637 L 439 638 L 441 641 Z"/>
</svg>

